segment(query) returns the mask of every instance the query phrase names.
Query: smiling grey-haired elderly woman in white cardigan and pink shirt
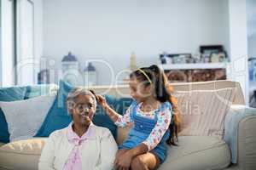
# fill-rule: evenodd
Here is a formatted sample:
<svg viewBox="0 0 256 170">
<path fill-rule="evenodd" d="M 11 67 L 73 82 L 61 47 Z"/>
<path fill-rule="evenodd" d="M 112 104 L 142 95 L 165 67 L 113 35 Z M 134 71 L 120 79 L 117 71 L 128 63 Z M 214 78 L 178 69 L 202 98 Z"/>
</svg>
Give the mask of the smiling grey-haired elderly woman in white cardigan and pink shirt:
<svg viewBox="0 0 256 170">
<path fill-rule="evenodd" d="M 117 144 L 108 128 L 91 122 L 96 112 L 95 95 L 75 88 L 67 95 L 67 109 L 73 122 L 49 135 L 38 169 L 112 169 Z"/>
</svg>

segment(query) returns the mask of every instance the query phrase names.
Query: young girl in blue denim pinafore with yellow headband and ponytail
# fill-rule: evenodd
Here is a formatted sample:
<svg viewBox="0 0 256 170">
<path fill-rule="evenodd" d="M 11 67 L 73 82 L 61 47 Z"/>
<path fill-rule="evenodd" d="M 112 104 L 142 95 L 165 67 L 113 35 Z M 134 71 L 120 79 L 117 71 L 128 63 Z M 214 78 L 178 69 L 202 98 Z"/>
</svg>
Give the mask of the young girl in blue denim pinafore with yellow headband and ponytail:
<svg viewBox="0 0 256 170">
<path fill-rule="evenodd" d="M 128 138 L 119 146 L 116 169 L 156 169 L 166 159 L 166 143 L 177 139 L 177 104 L 171 96 L 166 76 L 157 65 L 141 68 L 130 75 L 131 97 L 135 99 L 124 116 L 113 111 L 106 100 L 96 98 L 119 127 L 131 122 Z"/>
</svg>

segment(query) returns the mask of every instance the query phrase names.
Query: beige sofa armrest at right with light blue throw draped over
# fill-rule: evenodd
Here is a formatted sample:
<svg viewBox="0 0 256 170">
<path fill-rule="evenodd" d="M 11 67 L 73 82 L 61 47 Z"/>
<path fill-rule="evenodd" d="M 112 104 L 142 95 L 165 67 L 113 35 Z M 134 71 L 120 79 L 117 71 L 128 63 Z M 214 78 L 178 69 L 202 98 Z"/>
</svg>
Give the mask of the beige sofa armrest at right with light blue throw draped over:
<svg viewBox="0 0 256 170">
<path fill-rule="evenodd" d="M 232 163 L 243 170 L 256 169 L 256 109 L 231 105 L 225 117 L 224 140 L 230 145 Z"/>
</svg>

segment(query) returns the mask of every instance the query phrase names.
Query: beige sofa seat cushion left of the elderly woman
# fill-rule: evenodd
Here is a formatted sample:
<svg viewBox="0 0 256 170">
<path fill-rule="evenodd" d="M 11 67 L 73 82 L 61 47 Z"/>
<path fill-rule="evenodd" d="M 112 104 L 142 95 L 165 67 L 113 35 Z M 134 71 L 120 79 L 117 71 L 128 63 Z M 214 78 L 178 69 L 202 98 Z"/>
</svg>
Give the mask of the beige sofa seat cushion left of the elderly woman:
<svg viewBox="0 0 256 170">
<path fill-rule="evenodd" d="M 20 140 L 0 147 L 0 169 L 38 169 L 44 138 Z"/>
</svg>

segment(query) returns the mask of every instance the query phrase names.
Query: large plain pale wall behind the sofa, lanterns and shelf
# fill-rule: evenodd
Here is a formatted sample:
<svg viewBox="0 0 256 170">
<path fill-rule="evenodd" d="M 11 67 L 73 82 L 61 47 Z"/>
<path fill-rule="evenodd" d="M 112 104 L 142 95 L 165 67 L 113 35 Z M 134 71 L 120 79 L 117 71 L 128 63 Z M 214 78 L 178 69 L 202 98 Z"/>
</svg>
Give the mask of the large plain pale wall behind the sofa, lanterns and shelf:
<svg viewBox="0 0 256 170">
<path fill-rule="evenodd" d="M 226 0 L 44 0 L 44 57 L 61 59 L 69 50 L 80 63 L 105 59 L 115 74 L 129 65 L 157 64 L 162 51 L 198 53 L 202 44 L 228 47 Z M 84 68 L 84 65 L 83 65 Z M 107 67 L 97 65 L 100 84 Z"/>
</svg>

